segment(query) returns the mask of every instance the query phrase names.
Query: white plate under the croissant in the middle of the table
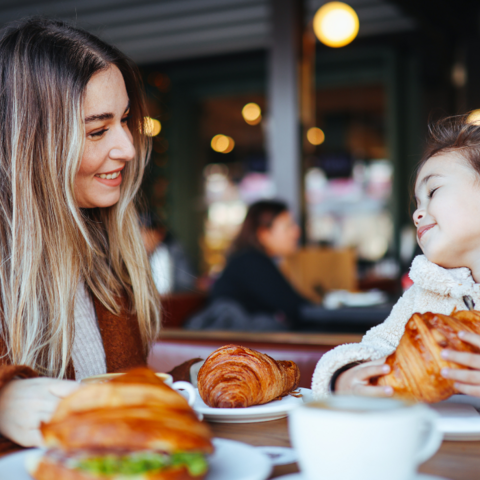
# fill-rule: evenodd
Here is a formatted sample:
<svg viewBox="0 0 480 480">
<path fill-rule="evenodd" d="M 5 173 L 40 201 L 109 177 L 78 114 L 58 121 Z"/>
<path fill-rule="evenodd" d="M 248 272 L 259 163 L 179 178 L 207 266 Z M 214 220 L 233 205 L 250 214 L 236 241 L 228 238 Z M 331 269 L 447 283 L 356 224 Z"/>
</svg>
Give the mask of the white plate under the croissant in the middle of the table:
<svg viewBox="0 0 480 480">
<path fill-rule="evenodd" d="M 311 391 L 308 388 L 299 388 L 299 390 L 305 398 L 310 398 Z M 281 400 L 274 400 L 265 405 L 255 405 L 247 408 L 211 408 L 203 402 L 202 397 L 198 394 L 193 409 L 210 422 L 254 423 L 284 418 L 292 408 L 298 407 L 303 402 L 302 397 L 296 398 L 288 395 Z"/>
</svg>

